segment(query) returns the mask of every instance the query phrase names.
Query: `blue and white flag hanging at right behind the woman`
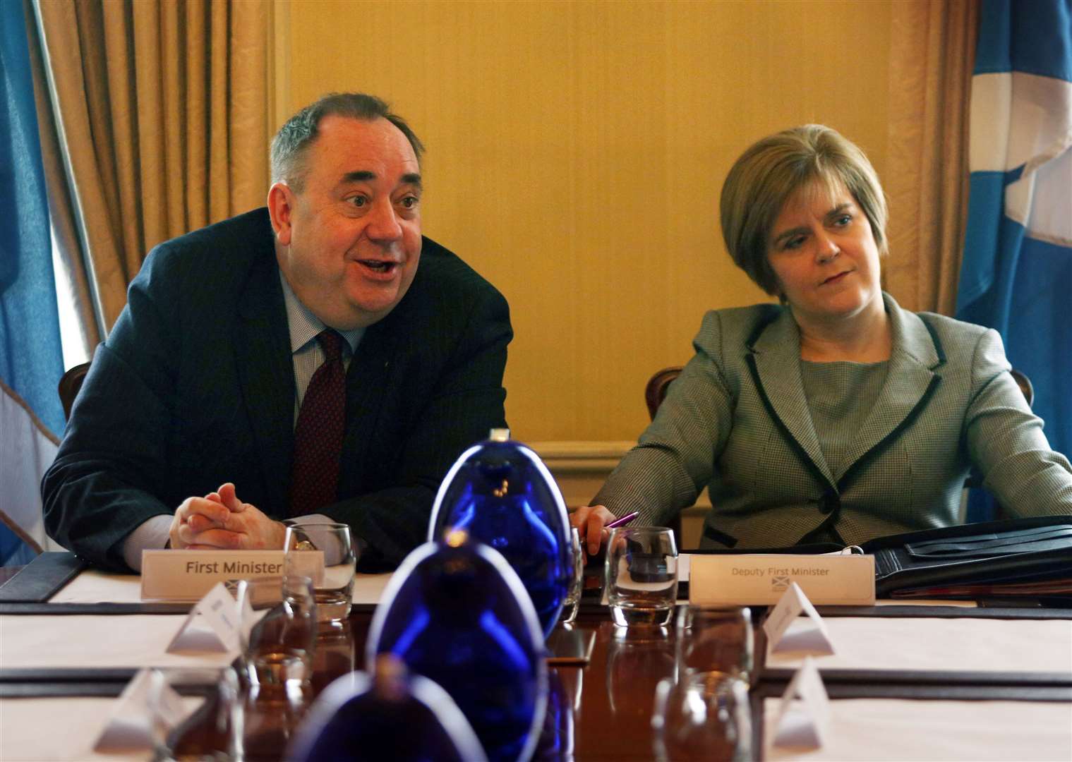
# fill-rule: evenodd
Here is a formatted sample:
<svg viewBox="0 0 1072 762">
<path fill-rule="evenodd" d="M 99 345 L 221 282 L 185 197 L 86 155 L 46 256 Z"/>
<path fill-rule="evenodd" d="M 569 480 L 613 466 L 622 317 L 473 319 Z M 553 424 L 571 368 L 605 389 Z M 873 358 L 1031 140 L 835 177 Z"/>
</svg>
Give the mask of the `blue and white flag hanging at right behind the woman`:
<svg viewBox="0 0 1072 762">
<path fill-rule="evenodd" d="M 984 0 L 956 316 L 1001 333 L 1072 455 L 1072 0 Z"/>
</svg>

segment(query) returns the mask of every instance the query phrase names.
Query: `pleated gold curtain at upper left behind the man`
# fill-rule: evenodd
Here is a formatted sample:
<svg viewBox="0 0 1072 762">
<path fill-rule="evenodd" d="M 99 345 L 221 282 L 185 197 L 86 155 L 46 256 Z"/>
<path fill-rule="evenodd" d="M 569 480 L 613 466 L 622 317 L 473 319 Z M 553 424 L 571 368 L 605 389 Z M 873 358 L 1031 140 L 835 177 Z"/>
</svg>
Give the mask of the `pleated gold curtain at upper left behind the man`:
<svg viewBox="0 0 1072 762">
<path fill-rule="evenodd" d="M 34 8 L 80 243 L 69 270 L 105 335 L 153 245 L 264 203 L 269 3 Z"/>
</svg>

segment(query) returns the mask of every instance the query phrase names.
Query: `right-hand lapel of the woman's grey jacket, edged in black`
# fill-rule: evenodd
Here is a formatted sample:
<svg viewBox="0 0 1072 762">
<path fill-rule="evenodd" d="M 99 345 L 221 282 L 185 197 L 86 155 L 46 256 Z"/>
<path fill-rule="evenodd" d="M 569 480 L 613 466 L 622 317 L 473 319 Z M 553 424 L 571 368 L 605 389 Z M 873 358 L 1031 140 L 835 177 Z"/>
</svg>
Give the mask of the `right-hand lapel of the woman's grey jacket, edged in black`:
<svg viewBox="0 0 1072 762">
<path fill-rule="evenodd" d="M 937 337 L 919 315 L 902 310 L 889 294 L 882 296 L 893 334 L 885 380 L 870 415 L 849 446 L 838 481 L 846 481 L 850 470 L 877 455 L 881 446 L 908 425 L 941 379 L 934 370 L 944 360 Z"/>
</svg>

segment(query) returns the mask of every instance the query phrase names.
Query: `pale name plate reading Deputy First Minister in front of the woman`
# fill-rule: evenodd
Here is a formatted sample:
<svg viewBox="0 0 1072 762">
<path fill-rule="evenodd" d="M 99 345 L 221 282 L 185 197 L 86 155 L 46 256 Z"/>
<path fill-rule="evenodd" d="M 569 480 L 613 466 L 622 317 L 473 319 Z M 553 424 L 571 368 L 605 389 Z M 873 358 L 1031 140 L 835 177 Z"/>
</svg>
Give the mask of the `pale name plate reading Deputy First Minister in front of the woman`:
<svg viewBox="0 0 1072 762">
<path fill-rule="evenodd" d="M 688 599 L 701 606 L 777 603 L 795 582 L 813 603 L 875 603 L 875 556 L 694 554 Z"/>
</svg>

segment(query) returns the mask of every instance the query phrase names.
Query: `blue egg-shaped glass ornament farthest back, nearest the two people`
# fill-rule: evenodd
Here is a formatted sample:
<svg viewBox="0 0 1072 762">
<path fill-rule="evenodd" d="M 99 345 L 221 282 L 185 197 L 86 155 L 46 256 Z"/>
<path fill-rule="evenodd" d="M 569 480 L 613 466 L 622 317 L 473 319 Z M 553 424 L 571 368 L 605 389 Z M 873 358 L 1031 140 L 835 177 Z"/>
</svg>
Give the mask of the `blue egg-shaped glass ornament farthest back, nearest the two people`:
<svg viewBox="0 0 1072 762">
<path fill-rule="evenodd" d="M 509 431 L 462 453 L 432 507 L 428 539 L 451 528 L 503 554 L 532 598 L 547 638 L 559 621 L 572 572 L 566 504 L 539 457 Z"/>
</svg>

